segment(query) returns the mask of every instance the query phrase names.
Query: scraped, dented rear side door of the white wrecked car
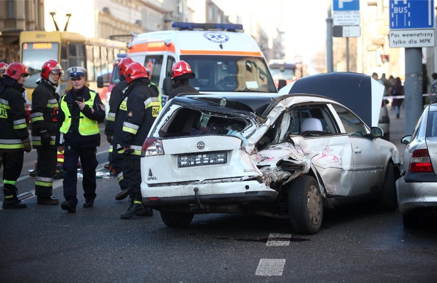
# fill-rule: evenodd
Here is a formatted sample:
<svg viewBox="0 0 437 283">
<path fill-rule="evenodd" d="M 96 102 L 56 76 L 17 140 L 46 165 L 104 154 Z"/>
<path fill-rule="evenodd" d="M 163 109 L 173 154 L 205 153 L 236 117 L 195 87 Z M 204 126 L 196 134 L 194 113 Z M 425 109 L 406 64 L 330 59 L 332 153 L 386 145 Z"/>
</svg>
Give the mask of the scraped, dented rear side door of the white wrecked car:
<svg viewBox="0 0 437 283">
<path fill-rule="evenodd" d="M 310 162 L 322 179 L 325 193 L 349 195 L 353 183 L 350 140 L 340 132 L 331 109 L 320 104 L 300 105 L 289 113 L 292 118 L 287 134 L 297 152 L 313 156 Z"/>
</svg>

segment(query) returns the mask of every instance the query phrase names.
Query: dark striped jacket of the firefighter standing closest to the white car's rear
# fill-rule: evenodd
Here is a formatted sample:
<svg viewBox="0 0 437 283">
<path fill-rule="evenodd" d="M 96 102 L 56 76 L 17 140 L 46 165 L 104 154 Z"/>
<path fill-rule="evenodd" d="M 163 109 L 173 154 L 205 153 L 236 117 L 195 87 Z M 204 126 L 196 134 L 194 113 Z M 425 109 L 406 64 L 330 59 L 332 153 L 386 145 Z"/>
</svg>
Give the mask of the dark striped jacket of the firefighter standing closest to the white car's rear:
<svg viewBox="0 0 437 283">
<path fill-rule="evenodd" d="M 134 79 L 125 92 L 129 99 L 120 145 L 133 149 L 133 152 L 126 154 L 127 157 L 140 158 L 143 143 L 162 108 L 158 95 L 149 87 L 149 83 L 147 77 Z"/>
</svg>

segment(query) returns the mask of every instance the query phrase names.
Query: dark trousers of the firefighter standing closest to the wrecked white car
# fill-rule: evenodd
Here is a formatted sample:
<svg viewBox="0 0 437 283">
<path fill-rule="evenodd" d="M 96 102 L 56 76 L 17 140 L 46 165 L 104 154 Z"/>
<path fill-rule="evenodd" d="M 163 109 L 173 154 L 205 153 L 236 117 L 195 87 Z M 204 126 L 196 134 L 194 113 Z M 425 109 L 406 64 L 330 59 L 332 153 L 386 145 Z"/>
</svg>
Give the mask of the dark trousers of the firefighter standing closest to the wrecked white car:
<svg viewBox="0 0 437 283">
<path fill-rule="evenodd" d="M 123 159 L 123 178 L 129 186 L 129 196 L 131 199 L 142 201 L 140 156 L 126 156 Z"/>
</svg>

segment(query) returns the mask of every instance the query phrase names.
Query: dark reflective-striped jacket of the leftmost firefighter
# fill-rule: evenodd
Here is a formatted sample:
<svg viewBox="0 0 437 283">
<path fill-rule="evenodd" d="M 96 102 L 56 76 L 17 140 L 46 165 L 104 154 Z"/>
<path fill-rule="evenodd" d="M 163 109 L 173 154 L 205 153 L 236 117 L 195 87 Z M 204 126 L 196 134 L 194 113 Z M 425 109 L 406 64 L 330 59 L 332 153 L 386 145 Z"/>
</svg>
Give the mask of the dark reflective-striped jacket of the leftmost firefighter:
<svg viewBox="0 0 437 283">
<path fill-rule="evenodd" d="M 3 85 L 0 85 L 0 152 L 24 151 L 23 140 L 29 138 L 24 90 L 15 79 L 3 77 Z"/>
</svg>

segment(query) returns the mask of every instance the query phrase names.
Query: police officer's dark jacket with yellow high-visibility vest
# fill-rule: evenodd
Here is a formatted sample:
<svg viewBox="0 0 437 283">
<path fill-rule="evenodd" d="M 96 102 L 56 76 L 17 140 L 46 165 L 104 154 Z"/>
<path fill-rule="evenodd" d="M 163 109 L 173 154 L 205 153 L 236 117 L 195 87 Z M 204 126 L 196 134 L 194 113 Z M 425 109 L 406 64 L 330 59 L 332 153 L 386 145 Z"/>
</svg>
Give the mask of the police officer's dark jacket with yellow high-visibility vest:
<svg viewBox="0 0 437 283">
<path fill-rule="evenodd" d="M 84 109 L 80 109 L 76 99 L 85 99 Z M 78 91 L 69 90 L 61 98 L 57 115 L 57 146 L 75 148 L 100 146 L 98 123 L 105 119 L 105 106 L 98 93 L 84 86 Z"/>
</svg>

